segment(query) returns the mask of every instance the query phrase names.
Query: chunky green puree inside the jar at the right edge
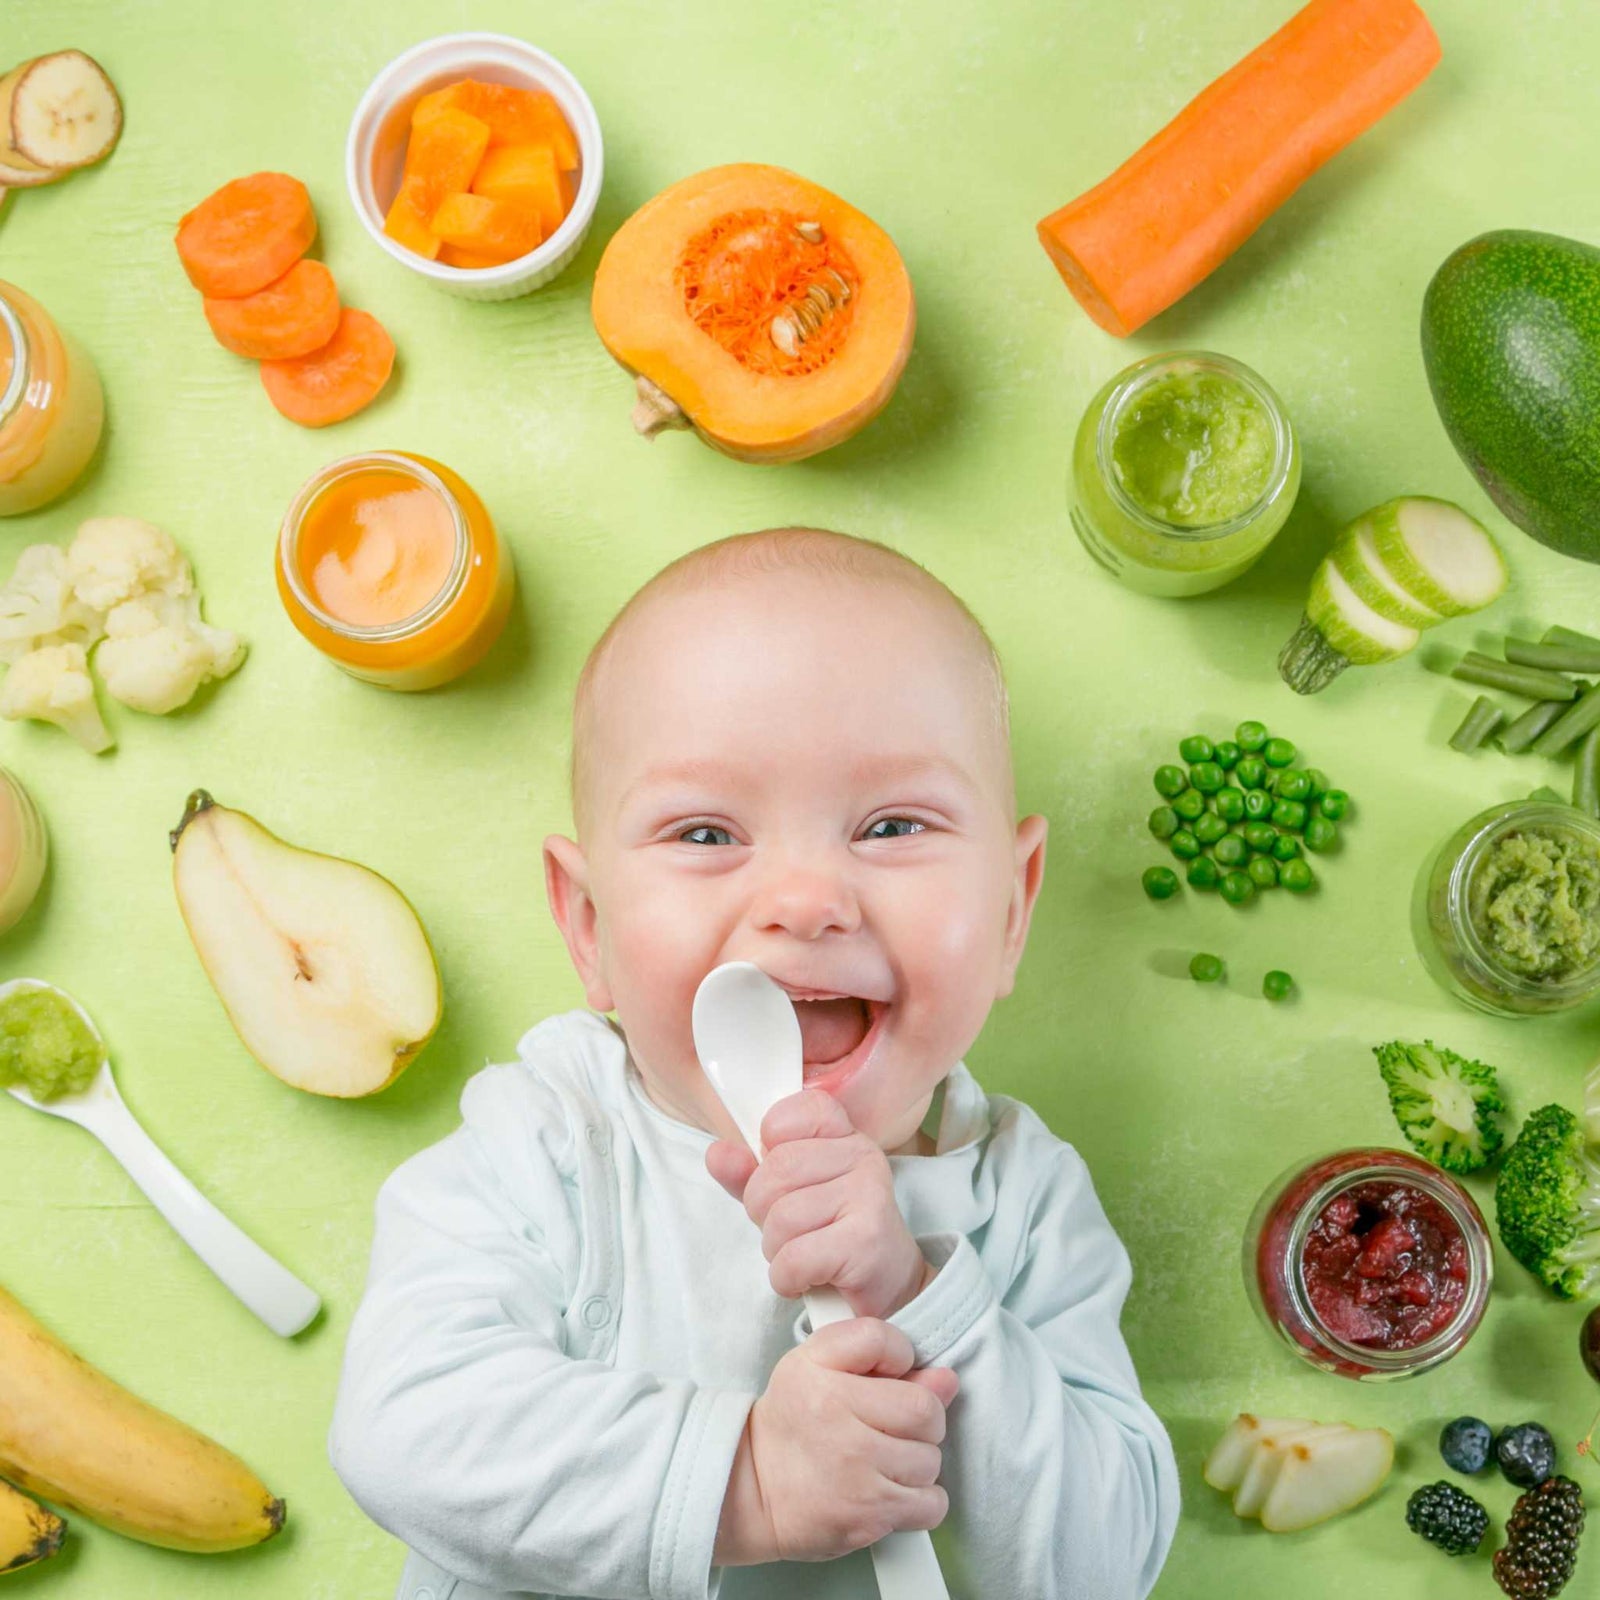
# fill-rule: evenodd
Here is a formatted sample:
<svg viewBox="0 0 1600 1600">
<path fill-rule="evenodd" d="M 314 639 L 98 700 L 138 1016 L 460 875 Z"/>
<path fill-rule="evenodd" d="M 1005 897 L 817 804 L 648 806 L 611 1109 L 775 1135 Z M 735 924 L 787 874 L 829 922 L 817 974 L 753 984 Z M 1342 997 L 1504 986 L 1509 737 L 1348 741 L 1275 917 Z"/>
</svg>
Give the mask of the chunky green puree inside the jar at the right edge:
<svg viewBox="0 0 1600 1600">
<path fill-rule="evenodd" d="M 1467 915 L 1496 965 L 1518 978 L 1587 971 L 1600 962 L 1600 848 L 1557 827 L 1506 834 L 1472 875 Z"/>
</svg>

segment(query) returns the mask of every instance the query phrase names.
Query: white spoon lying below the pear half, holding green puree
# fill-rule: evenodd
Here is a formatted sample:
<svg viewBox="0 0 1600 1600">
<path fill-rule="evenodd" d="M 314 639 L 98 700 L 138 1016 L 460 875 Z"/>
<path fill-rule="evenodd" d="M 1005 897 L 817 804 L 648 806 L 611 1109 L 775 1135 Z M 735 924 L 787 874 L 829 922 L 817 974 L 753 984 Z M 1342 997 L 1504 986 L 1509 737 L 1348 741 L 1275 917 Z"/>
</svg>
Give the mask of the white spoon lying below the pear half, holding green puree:
<svg viewBox="0 0 1600 1600">
<path fill-rule="evenodd" d="M 50 1099 L 35 1099 L 21 1086 L 11 1086 L 11 1094 L 34 1110 L 75 1122 L 93 1133 L 122 1162 L 128 1176 L 144 1190 L 150 1205 L 171 1222 L 184 1243 L 274 1333 L 286 1339 L 307 1326 L 322 1309 L 315 1291 L 222 1216 L 134 1122 L 133 1112 L 117 1093 L 106 1042 L 88 1011 L 72 995 L 37 978 L 14 978 L 0 984 L 0 1046 L 5 1043 L 6 1002 L 29 994 L 50 995 L 70 1008 L 69 1014 L 58 1013 L 54 1022 L 37 1022 L 37 1032 L 61 1027 L 66 1046 L 82 1051 L 85 1043 L 72 1024 L 75 1018 L 88 1030 L 88 1042 L 99 1056 L 99 1069 L 83 1088 L 53 1094 Z"/>
</svg>

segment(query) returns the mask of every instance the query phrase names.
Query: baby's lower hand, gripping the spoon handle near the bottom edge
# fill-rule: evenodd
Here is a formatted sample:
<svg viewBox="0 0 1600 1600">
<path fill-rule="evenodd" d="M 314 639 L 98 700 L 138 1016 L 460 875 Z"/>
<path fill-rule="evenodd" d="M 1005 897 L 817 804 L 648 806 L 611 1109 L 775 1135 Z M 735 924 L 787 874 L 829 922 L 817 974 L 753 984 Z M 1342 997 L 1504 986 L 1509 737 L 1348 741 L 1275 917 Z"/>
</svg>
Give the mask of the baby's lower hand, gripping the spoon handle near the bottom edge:
<svg viewBox="0 0 1600 1600">
<path fill-rule="evenodd" d="M 910 1339 L 858 1317 L 773 1368 L 728 1478 L 718 1566 L 829 1562 L 901 1528 L 938 1528 L 949 1366 L 912 1370 Z"/>
</svg>

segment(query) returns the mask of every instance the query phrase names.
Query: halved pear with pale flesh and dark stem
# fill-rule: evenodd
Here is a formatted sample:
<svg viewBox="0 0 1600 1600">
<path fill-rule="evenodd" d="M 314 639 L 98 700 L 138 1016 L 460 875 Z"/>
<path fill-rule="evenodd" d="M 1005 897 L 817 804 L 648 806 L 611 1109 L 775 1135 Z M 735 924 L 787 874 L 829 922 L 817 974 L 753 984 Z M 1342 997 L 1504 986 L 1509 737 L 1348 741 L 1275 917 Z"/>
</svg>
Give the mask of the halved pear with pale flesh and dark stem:
<svg viewBox="0 0 1600 1600">
<path fill-rule="evenodd" d="M 387 878 L 285 843 L 203 789 L 171 845 L 200 965 L 270 1074 L 354 1099 L 416 1059 L 443 990 L 422 923 Z"/>
</svg>

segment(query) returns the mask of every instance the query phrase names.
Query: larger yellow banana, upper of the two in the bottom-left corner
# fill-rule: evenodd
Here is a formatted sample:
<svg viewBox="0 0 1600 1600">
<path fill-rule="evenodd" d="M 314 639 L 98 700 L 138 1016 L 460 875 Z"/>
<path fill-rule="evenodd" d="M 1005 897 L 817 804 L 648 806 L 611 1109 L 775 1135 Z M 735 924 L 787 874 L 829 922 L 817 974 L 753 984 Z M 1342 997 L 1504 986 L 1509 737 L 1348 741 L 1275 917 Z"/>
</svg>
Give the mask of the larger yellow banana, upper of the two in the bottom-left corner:
<svg viewBox="0 0 1600 1600">
<path fill-rule="evenodd" d="M 238 1456 L 74 1355 L 0 1290 L 0 1477 L 170 1550 L 237 1550 L 283 1526 Z"/>
</svg>

